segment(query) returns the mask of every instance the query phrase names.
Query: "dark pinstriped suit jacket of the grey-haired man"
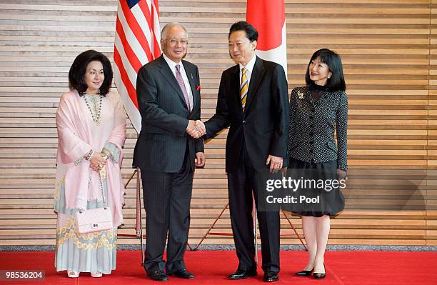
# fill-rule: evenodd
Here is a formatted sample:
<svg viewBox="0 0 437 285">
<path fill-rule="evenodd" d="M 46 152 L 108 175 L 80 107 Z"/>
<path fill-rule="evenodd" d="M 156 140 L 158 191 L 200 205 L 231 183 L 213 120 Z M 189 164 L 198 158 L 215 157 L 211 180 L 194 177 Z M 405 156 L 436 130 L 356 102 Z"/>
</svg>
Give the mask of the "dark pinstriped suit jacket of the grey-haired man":
<svg viewBox="0 0 437 285">
<path fill-rule="evenodd" d="M 196 152 L 204 151 L 202 139 L 186 134 L 189 120 L 200 119 L 199 69 L 182 61 L 190 81 L 194 106 L 189 113 L 184 94 L 163 56 L 139 69 L 136 96 L 141 114 L 141 132 L 134 150 L 133 165 L 146 171 L 174 173 L 184 162 L 189 144 L 189 163 L 194 170 Z"/>
</svg>

